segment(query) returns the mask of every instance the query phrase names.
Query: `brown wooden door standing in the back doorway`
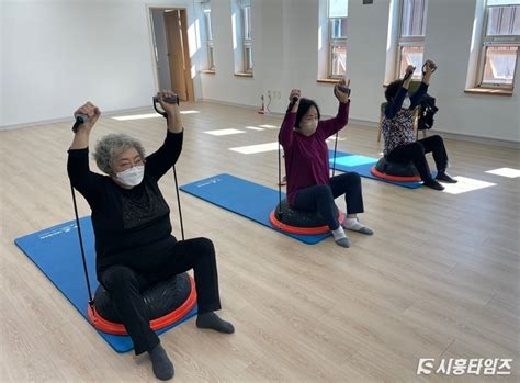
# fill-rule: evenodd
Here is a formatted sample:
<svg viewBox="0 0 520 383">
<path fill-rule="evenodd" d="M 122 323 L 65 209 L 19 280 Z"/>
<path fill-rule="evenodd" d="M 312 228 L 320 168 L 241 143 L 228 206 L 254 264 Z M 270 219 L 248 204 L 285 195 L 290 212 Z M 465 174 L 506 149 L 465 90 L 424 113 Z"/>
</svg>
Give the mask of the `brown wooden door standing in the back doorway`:
<svg viewBox="0 0 520 383">
<path fill-rule="evenodd" d="M 190 49 L 188 46 L 186 11 L 166 11 L 165 25 L 168 41 L 171 90 L 179 95 L 180 100 L 195 101 L 193 79 L 191 78 Z"/>
</svg>

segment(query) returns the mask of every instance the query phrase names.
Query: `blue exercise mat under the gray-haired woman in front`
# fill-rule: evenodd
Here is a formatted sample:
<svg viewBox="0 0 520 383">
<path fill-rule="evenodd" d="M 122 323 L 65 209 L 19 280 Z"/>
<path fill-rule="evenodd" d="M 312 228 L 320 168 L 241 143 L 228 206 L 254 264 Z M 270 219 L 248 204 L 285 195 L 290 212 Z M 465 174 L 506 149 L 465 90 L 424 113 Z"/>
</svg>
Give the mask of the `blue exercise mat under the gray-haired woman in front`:
<svg viewBox="0 0 520 383">
<path fill-rule="evenodd" d="M 90 217 L 80 219 L 87 267 L 89 270 L 92 294 L 98 288 L 95 279 L 94 235 Z M 83 263 L 78 239 L 76 221 L 46 228 L 41 232 L 16 238 L 14 244 L 42 270 L 54 285 L 69 300 L 76 309 L 87 319 L 89 293 L 84 280 Z M 162 328 L 162 334 L 196 314 L 196 306 L 178 323 Z M 93 328 L 93 327 L 92 327 Z M 117 352 L 127 352 L 134 348 L 131 337 L 110 335 L 98 331 L 99 335 Z"/>
</svg>

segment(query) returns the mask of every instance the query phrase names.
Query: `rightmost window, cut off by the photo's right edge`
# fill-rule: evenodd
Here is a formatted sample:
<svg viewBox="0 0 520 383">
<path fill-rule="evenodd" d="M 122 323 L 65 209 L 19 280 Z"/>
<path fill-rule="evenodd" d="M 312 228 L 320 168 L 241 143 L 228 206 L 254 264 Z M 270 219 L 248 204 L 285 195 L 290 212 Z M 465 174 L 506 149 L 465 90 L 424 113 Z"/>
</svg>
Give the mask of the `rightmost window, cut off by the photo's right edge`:
<svg viewBox="0 0 520 383">
<path fill-rule="evenodd" d="M 520 47 L 520 1 L 488 0 L 477 86 L 512 89 Z"/>
</svg>

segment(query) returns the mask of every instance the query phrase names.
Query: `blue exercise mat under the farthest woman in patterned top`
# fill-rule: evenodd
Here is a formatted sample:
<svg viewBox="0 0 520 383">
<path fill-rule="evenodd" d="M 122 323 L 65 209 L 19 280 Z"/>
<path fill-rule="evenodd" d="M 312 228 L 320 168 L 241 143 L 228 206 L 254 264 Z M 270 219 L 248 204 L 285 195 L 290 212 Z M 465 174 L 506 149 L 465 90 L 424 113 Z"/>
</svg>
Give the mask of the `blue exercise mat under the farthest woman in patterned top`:
<svg viewBox="0 0 520 383">
<path fill-rule="evenodd" d="M 383 180 L 378 177 L 373 176 L 370 169 L 378 161 L 378 158 L 371 158 L 360 155 L 353 155 L 351 153 L 337 151 L 336 153 L 336 170 L 339 171 L 355 171 L 361 177 L 371 178 L 373 180 L 396 184 L 398 187 L 417 189 L 422 185 L 421 182 L 396 182 Z M 334 150 L 329 150 L 329 164 L 332 167 L 334 164 Z"/>
</svg>

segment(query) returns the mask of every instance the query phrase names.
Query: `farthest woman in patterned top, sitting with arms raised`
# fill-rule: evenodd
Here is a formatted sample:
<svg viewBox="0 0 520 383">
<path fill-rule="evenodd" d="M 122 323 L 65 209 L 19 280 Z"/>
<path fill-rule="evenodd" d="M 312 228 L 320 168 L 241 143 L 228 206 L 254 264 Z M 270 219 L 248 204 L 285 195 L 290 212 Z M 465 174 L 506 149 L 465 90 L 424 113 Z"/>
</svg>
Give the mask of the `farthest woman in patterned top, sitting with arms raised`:
<svg viewBox="0 0 520 383">
<path fill-rule="evenodd" d="M 419 104 L 421 98 L 428 90 L 432 69 L 427 66 L 419 89 L 411 95 L 408 95 L 408 87 L 411 81 L 414 67 L 406 68 L 409 76 L 405 80 L 396 80 L 388 85 L 385 91 L 387 104 L 384 111 L 382 129 L 385 140 L 384 155 L 392 162 L 412 161 L 425 187 L 443 190 L 444 187 L 438 181 L 455 183 L 456 180 L 446 173 L 448 154 L 444 142 L 441 136 L 436 135 L 428 138 L 416 140 L 414 133 L 412 113 Z M 437 177 L 431 177 L 426 154 L 433 153 L 433 159 L 437 166 Z"/>
</svg>

